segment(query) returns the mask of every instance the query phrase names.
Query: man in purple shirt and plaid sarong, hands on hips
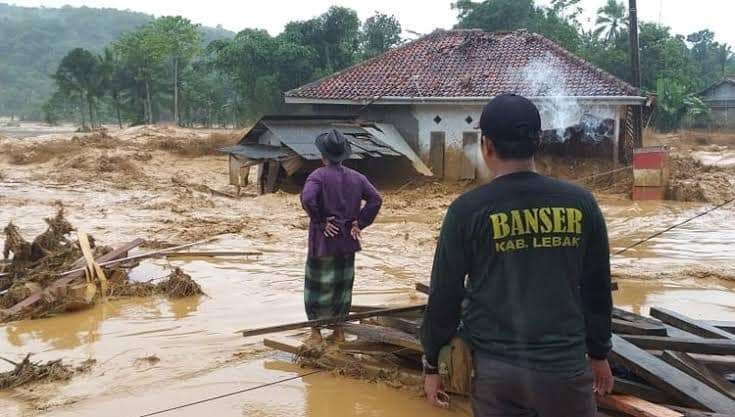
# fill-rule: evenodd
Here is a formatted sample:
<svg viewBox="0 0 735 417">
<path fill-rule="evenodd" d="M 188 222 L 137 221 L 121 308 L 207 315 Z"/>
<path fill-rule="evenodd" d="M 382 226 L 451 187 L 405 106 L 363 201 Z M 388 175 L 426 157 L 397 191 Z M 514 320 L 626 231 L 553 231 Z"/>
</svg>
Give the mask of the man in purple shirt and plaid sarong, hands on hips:
<svg viewBox="0 0 735 417">
<path fill-rule="evenodd" d="M 319 135 L 316 147 L 324 167 L 309 175 L 301 192 L 301 204 L 311 219 L 304 284 L 309 320 L 349 314 L 361 232 L 373 223 L 383 203 L 364 175 L 342 165 L 352 153 L 342 133 L 332 130 Z M 344 340 L 341 326 L 335 327 L 334 338 Z M 322 341 L 319 328 L 312 329 L 310 339 Z"/>
</svg>

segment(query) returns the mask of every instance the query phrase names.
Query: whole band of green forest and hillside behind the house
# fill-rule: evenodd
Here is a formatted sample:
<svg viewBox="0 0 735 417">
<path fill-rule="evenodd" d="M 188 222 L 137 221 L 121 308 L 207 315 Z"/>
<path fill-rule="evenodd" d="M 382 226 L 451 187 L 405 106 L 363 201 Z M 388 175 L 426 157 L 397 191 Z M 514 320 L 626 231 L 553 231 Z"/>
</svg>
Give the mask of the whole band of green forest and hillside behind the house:
<svg viewBox="0 0 735 417">
<path fill-rule="evenodd" d="M 630 80 L 628 16 L 609 0 L 594 28 L 578 21 L 579 0 L 453 3 L 458 28 L 526 28 Z M 112 9 L 21 8 L 0 4 L 0 116 L 47 122 L 242 126 L 278 111 L 281 93 L 396 47 L 400 22 L 354 10 L 234 34 L 182 17 Z M 413 34 L 412 36 L 415 36 Z M 643 88 L 658 95 L 656 123 L 673 129 L 706 118 L 697 93 L 735 73 L 730 45 L 702 28 L 675 34 L 640 22 Z"/>
</svg>

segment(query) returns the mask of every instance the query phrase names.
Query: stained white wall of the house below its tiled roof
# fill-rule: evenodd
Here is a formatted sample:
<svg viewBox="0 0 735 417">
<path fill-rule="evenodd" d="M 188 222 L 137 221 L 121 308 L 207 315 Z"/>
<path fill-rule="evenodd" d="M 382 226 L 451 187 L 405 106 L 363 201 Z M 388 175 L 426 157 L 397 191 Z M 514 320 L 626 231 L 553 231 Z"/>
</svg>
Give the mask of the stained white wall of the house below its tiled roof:
<svg viewBox="0 0 735 417">
<path fill-rule="evenodd" d="M 623 106 L 616 105 L 574 105 L 568 103 L 536 103 L 541 113 L 541 123 L 544 130 L 566 128 L 579 122 L 583 114 L 593 114 L 601 119 L 616 121 L 615 147 L 619 137 Z M 481 105 L 457 104 L 417 104 L 413 106 L 413 115 L 418 120 L 419 149 L 421 158 L 431 164 L 431 135 L 432 132 L 443 132 L 445 136 L 444 176 L 447 179 L 465 179 L 468 176 L 467 164 L 477 166 L 475 174 L 486 177 L 483 172 L 484 164 L 478 148 L 463 146 L 466 133 L 474 132 L 479 139 L 480 131 L 475 129 L 480 123 L 482 114 Z M 561 109 L 561 110 L 559 110 Z M 560 114 L 563 111 L 564 114 Z M 561 126 L 556 126 L 557 124 Z M 615 152 L 617 153 L 617 152 Z M 474 178 L 474 176 L 473 176 Z"/>
</svg>

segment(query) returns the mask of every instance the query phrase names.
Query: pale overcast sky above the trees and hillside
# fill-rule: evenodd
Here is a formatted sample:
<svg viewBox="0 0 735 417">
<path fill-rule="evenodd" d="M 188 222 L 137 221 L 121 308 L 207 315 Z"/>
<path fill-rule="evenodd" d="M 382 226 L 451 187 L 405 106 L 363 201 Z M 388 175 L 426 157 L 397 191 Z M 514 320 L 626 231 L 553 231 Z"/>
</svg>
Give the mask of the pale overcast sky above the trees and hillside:
<svg viewBox="0 0 735 417">
<path fill-rule="evenodd" d="M 365 19 L 376 10 L 398 17 L 404 29 L 420 33 L 451 28 L 456 13 L 452 0 L 0 0 L 21 6 L 63 5 L 129 9 L 156 16 L 182 15 L 208 26 L 222 25 L 232 31 L 264 28 L 278 34 L 291 20 L 304 20 L 323 13 L 331 5 L 351 7 Z M 548 3 L 550 0 L 537 0 Z M 594 25 L 594 15 L 605 0 L 582 0 L 583 24 Z M 625 1 L 627 4 L 627 1 Z M 735 47 L 735 0 L 638 0 L 642 20 L 660 22 L 675 33 L 689 34 L 708 28 L 717 40 Z"/>
</svg>

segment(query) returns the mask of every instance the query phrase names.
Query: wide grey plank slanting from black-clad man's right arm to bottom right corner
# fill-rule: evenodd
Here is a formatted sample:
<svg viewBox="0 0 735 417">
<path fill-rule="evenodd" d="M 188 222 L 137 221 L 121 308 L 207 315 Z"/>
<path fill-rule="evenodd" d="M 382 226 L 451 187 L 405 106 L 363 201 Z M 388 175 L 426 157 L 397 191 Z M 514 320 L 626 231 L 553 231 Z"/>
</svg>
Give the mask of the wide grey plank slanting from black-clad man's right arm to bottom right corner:
<svg viewBox="0 0 735 417">
<path fill-rule="evenodd" d="M 657 337 L 657 336 L 632 336 Z M 631 369 L 649 384 L 685 405 L 718 413 L 735 413 L 735 401 L 661 359 L 613 335 L 613 363 Z"/>
</svg>

